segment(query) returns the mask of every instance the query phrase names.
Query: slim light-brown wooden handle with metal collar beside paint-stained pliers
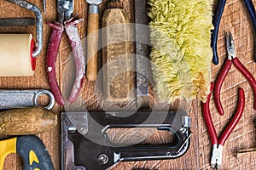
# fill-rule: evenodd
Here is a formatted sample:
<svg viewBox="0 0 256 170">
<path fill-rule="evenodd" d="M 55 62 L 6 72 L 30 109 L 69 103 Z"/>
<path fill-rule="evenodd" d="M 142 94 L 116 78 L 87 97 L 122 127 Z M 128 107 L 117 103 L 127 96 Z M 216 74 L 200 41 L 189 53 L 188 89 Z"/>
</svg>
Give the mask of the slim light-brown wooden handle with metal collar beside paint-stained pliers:
<svg viewBox="0 0 256 170">
<path fill-rule="evenodd" d="M 97 76 L 97 51 L 99 42 L 99 4 L 102 0 L 86 0 L 90 3 L 87 31 L 87 71 L 89 81 L 95 81 Z"/>
</svg>

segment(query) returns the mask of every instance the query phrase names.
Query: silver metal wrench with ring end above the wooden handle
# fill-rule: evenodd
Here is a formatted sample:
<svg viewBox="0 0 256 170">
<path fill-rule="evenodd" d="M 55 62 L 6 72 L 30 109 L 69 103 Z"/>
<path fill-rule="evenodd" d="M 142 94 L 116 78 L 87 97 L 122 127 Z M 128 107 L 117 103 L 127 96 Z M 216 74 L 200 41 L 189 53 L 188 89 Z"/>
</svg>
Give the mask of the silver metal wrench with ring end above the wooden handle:
<svg viewBox="0 0 256 170">
<path fill-rule="evenodd" d="M 0 109 L 38 107 L 38 99 L 42 95 L 49 97 L 49 105 L 45 109 L 52 109 L 55 98 L 48 90 L 0 90 Z"/>
</svg>

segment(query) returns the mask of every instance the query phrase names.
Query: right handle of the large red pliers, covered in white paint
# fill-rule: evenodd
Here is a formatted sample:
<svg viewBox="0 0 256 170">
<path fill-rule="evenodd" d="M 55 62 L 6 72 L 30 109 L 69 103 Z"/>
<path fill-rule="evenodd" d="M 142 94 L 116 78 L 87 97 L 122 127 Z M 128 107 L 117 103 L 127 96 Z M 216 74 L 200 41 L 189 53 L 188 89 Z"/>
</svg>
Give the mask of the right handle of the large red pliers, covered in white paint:
<svg viewBox="0 0 256 170">
<path fill-rule="evenodd" d="M 68 101 L 73 103 L 80 94 L 81 89 L 84 84 L 84 74 L 85 74 L 85 59 L 84 50 L 82 47 L 82 42 L 79 37 L 79 30 L 77 24 L 82 20 L 67 20 L 65 22 L 65 31 L 67 32 L 67 37 L 73 48 L 73 59 L 76 65 L 76 78 L 73 84 L 71 94 L 69 95 Z"/>
</svg>

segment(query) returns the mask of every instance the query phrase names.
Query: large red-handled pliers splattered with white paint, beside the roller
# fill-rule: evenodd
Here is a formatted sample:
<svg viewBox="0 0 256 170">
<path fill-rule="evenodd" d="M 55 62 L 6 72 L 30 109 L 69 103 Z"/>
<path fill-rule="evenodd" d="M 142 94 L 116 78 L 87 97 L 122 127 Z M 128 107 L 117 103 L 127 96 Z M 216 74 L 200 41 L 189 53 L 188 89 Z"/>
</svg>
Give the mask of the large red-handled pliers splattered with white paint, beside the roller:
<svg viewBox="0 0 256 170">
<path fill-rule="evenodd" d="M 57 59 L 61 37 L 65 29 L 71 47 L 73 48 L 73 58 L 76 65 L 76 78 L 68 99 L 70 103 L 73 103 L 79 97 L 79 93 L 83 87 L 85 74 L 84 50 L 77 28 L 77 24 L 79 24 L 79 22 L 82 20 L 75 20 L 73 18 L 73 0 L 57 0 L 57 13 L 58 21 L 54 24 L 47 23 L 52 27 L 52 32 L 49 38 L 46 65 L 49 78 L 49 86 L 52 90 L 52 93 L 54 94 L 56 101 L 60 105 L 64 105 L 64 99 L 56 81 L 55 62 Z"/>
</svg>

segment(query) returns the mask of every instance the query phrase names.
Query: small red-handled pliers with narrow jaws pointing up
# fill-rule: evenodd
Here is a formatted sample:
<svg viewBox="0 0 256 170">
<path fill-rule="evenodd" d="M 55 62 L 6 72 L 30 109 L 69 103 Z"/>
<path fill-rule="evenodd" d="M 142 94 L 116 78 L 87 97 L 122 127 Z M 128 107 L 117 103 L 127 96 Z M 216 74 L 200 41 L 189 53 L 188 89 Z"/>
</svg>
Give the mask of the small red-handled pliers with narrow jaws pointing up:
<svg viewBox="0 0 256 170">
<path fill-rule="evenodd" d="M 227 52 L 228 52 L 228 58 L 225 59 L 224 66 L 218 74 L 216 84 L 215 84 L 215 87 L 213 90 L 214 101 L 215 101 L 217 110 L 220 115 L 224 115 L 223 107 L 222 107 L 221 101 L 220 101 L 220 89 L 222 87 L 225 77 L 227 77 L 227 75 L 230 71 L 230 67 L 231 67 L 232 63 L 241 72 L 241 74 L 247 78 L 247 81 L 250 83 L 250 85 L 253 89 L 253 98 L 254 98 L 253 108 L 256 110 L 256 81 L 255 81 L 253 75 L 247 70 L 247 68 L 241 64 L 239 59 L 237 59 L 236 49 L 235 49 L 235 44 L 234 44 L 232 34 L 231 33 L 229 34 L 226 32 L 225 37 L 226 37 L 226 48 L 227 48 Z"/>
</svg>

